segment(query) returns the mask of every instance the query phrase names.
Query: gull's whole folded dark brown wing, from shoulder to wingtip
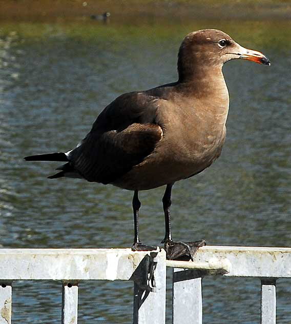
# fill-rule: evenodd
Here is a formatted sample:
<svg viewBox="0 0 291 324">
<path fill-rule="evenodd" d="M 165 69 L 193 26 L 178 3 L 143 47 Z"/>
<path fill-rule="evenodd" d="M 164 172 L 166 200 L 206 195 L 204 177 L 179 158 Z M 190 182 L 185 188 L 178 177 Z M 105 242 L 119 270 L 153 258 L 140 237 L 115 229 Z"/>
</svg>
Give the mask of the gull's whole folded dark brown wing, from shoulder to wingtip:
<svg viewBox="0 0 291 324">
<path fill-rule="evenodd" d="M 109 184 L 129 172 L 155 150 L 162 138 L 162 129 L 155 123 L 159 100 L 142 92 L 115 99 L 71 151 L 70 162 L 52 177 L 80 175 L 88 181 Z"/>
</svg>

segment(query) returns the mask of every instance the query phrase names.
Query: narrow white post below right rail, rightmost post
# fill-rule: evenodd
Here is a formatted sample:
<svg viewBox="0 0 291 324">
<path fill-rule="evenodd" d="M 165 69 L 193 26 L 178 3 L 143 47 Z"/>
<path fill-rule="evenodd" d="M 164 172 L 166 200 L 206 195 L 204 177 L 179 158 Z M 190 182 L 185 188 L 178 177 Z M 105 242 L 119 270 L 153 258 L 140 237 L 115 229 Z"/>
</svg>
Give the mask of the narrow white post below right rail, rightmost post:
<svg viewBox="0 0 291 324">
<path fill-rule="evenodd" d="M 276 324 L 276 279 L 261 279 L 261 324 Z"/>
</svg>

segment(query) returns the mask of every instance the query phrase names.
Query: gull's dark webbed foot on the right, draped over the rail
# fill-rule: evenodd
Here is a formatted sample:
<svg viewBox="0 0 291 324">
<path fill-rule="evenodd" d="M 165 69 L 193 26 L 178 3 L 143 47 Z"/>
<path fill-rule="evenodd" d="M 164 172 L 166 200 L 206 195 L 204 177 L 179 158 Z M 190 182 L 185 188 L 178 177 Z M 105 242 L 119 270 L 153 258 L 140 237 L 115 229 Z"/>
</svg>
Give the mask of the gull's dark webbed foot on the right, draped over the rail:
<svg viewBox="0 0 291 324">
<path fill-rule="evenodd" d="M 179 242 L 173 240 L 164 241 L 164 249 L 168 260 L 193 261 L 193 256 L 198 248 L 205 246 L 205 241 Z"/>
</svg>

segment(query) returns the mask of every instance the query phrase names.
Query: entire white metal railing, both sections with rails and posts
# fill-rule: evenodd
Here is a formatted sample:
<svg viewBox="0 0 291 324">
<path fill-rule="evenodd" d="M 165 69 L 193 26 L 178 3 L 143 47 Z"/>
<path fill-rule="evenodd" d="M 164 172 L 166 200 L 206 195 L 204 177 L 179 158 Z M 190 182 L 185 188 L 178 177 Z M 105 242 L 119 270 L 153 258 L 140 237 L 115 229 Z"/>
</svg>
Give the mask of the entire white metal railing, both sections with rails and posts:
<svg viewBox="0 0 291 324">
<path fill-rule="evenodd" d="M 0 324 L 11 323 L 14 280 L 60 280 L 63 324 L 77 323 L 82 280 L 133 280 L 134 324 L 165 323 L 166 267 L 173 268 L 173 324 L 202 324 L 205 275 L 261 279 L 261 323 L 276 323 L 276 279 L 291 277 L 291 248 L 206 246 L 194 261 L 131 249 L 0 249 Z M 185 302 L 186 301 L 186 302 Z"/>
</svg>

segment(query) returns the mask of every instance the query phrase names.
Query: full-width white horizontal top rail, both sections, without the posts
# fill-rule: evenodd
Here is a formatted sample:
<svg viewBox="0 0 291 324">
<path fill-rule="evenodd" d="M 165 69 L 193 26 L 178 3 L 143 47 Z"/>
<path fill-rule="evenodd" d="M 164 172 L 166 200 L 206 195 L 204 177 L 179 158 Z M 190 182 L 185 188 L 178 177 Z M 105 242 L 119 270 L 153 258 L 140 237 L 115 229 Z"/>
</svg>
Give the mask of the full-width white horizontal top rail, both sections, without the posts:
<svg viewBox="0 0 291 324">
<path fill-rule="evenodd" d="M 0 280 L 129 280 L 153 252 L 131 249 L 0 249 Z M 291 248 L 205 246 L 172 268 L 235 277 L 290 278 Z"/>
</svg>

